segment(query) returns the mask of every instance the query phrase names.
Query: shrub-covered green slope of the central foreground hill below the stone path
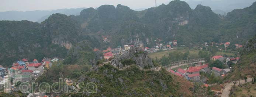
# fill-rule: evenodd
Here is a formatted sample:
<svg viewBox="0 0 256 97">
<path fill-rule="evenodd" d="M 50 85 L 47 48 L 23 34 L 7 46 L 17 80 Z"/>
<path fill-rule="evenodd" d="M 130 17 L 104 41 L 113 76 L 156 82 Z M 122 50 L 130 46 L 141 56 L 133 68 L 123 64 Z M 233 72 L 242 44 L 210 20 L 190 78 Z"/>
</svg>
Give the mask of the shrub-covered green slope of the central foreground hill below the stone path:
<svg viewBox="0 0 256 97">
<path fill-rule="evenodd" d="M 119 71 L 111 65 L 104 65 L 97 71 L 82 76 L 83 82 L 94 82 L 97 93 L 90 96 L 192 96 L 193 84 L 179 78 L 165 69 L 141 71 L 136 66 Z M 92 79 L 92 80 L 90 80 Z M 200 89 L 200 87 L 198 87 Z M 191 89 L 191 90 L 190 90 Z M 196 91 L 197 94 L 200 91 Z M 65 94 L 63 94 L 63 97 Z M 71 93 L 72 97 L 83 97 L 82 93 Z"/>
</svg>

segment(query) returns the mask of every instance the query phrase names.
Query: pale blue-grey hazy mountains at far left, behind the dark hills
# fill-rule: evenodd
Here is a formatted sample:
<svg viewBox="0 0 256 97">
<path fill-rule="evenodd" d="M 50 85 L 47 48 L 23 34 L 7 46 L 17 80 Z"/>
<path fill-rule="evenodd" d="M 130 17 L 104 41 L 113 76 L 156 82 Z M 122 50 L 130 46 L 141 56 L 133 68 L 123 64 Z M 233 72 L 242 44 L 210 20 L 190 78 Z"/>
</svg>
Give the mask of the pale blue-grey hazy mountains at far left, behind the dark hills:
<svg viewBox="0 0 256 97">
<path fill-rule="evenodd" d="M 11 21 L 28 20 L 32 22 L 41 23 L 52 14 L 60 13 L 65 15 L 79 15 L 83 9 L 85 8 L 58 9 L 58 10 L 52 10 L 52 11 L 48 11 L 48 10 L 6 11 L 6 12 L 0 12 L 0 20 L 11 20 Z"/>
</svg>

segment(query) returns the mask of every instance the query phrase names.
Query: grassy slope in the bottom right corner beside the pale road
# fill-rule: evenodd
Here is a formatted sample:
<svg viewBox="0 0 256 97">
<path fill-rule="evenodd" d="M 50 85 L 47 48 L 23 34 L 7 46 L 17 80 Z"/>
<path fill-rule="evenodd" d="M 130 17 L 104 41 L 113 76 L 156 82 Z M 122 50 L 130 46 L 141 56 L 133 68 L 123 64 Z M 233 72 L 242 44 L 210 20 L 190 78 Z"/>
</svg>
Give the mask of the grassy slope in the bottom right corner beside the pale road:
<svg viewBox="0 0 256 97">
<path fill-rule="evenodd" d="M 246 83 L 241 87 L 237 86 L 231 97 L 256 97 L 256 84 Z"/>
</svg>

